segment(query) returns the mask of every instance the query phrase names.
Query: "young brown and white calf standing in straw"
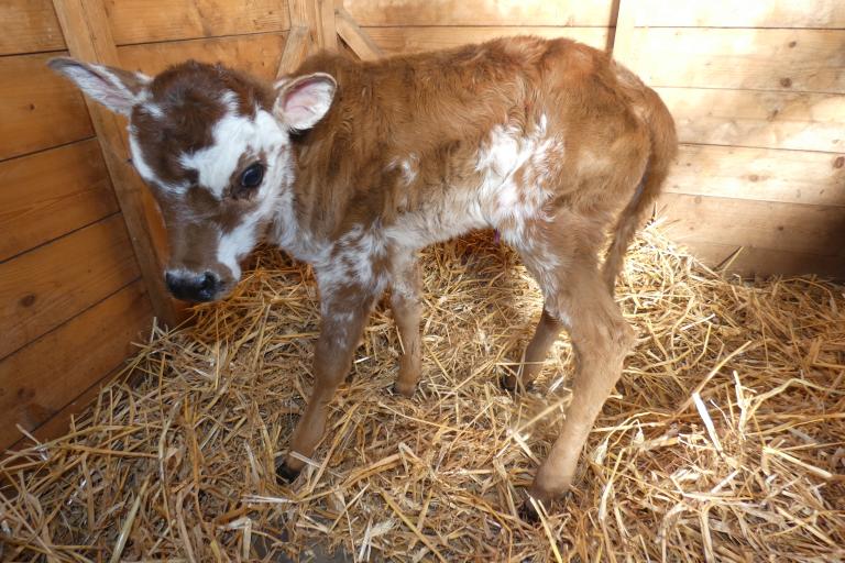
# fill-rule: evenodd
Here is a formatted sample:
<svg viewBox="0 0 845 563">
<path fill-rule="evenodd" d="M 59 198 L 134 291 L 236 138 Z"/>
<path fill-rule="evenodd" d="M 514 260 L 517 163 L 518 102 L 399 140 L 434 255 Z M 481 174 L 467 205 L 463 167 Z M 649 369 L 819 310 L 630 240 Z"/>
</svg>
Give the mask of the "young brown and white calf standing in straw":
<svg viewBox="0 0 845 563">
<path fill-rule="evenodd" d="M 614 279 L 677 145 L 666 107 L 630 71 L 572 41 L 535 37 L 374 63 L 321 54 L 274 85 L 195 62 L 155 78 L 68 58 L 51 66 L 130 118 L 132 162 L 165 217 L 176 297 L 224 297 L 260 241 L 314 265 L 322 325 L 293 452 L 310 455 L 320 441 L 387 286 L 404 346 L 395 388 L 414 394 L 416 252 L 496 229 L 545 298 L 506 386 L 531 382 L 563 328 L 578 354 L 575 399 L 529 494 L 548 501 L 568 489 L 634 340 Z M 301 466 L 288 455 L 279 475 Z"/>
</svg>

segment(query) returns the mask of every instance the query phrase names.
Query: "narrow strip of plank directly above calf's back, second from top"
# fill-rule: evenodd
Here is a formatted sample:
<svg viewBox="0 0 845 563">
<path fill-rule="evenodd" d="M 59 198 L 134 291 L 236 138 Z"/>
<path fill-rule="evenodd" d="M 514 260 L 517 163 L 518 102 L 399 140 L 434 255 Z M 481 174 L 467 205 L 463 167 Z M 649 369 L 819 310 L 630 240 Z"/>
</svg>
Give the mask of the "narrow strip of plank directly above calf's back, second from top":
<svg viewBox="0 0 845 563">
<path fill-rule="evenodd" d="M 595 48 L 607 45 L 607 27 L 365 27 L 364 31 L 386 54 L 416 53 L 481 43 L 505 35 L 569 37 Z"/>
</svg>

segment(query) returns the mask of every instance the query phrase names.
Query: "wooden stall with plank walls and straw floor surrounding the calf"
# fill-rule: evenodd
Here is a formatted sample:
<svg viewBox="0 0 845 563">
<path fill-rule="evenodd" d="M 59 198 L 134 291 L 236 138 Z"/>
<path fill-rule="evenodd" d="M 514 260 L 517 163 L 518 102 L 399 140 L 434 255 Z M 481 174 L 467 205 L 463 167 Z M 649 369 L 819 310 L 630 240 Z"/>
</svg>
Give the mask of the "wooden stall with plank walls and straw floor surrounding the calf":
<svg viewBox="0 0 845 563">
<path fill-rule="evenodd" d="M 834 561 L 845 558 L 845 5 L 837 0 L 7 0 L 0 5 L 3 561 Z M 638 343 L 569 497 L 518 515 L 570 400 L 556 344 L 498 387 L 541 298 L 491 233 L 424 253 L 424 373 L 367 325 L 330 432 L 276 460 L 312 380 L 312 272 L 273 249 L 235 294 L 167 297 L 125 123 L 45 66 L 262 78 L 502 35 L 605 49 L 680 154 L 617 300 Z"/>
</svg>

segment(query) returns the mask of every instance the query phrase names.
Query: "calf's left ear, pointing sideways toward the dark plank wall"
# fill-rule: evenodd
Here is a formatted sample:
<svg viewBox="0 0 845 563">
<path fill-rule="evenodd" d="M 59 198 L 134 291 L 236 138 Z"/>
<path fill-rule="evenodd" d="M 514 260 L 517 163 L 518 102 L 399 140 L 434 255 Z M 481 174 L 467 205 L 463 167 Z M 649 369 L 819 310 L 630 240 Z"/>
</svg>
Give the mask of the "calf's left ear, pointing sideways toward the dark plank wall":
<svg viewBox="0 0 845 563">
<path fill-rule="evenodd" d="M 47 66 L 69 78 L 91 99 L 123 115 L 132 113 L 132 107 L 143 100 L 151 80 L 141 73 L 90 65 L 70 57 L 52 58 Z"/>
</svg>

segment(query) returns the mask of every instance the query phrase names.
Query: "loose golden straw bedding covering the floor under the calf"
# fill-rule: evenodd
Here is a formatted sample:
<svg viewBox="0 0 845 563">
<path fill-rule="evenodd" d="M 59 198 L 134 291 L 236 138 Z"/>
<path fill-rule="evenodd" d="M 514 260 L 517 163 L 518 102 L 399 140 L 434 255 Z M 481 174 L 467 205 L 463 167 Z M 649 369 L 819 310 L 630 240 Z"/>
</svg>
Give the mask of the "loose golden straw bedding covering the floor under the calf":
<svg viewBox="0 0 845 563">
<path fill-rule="evenodd" d="M 638 345 L 572 494 L 528 526 L 571 347 L 514 398 L 497 380 L 540 312 L 516 256 L 482 233 L 425 252 L 424 276 L 416 396 L 391 393 L 400 343 L 382 305 L 285 487 L 317 295 L 306 266 L 260 252 L 232 298 L 156 330 L 67 435 L 7 453 L 0 559 L 845 559 L 842 287 L 726 279 L 647 229 L 618 287 Z"/>
</svg>

